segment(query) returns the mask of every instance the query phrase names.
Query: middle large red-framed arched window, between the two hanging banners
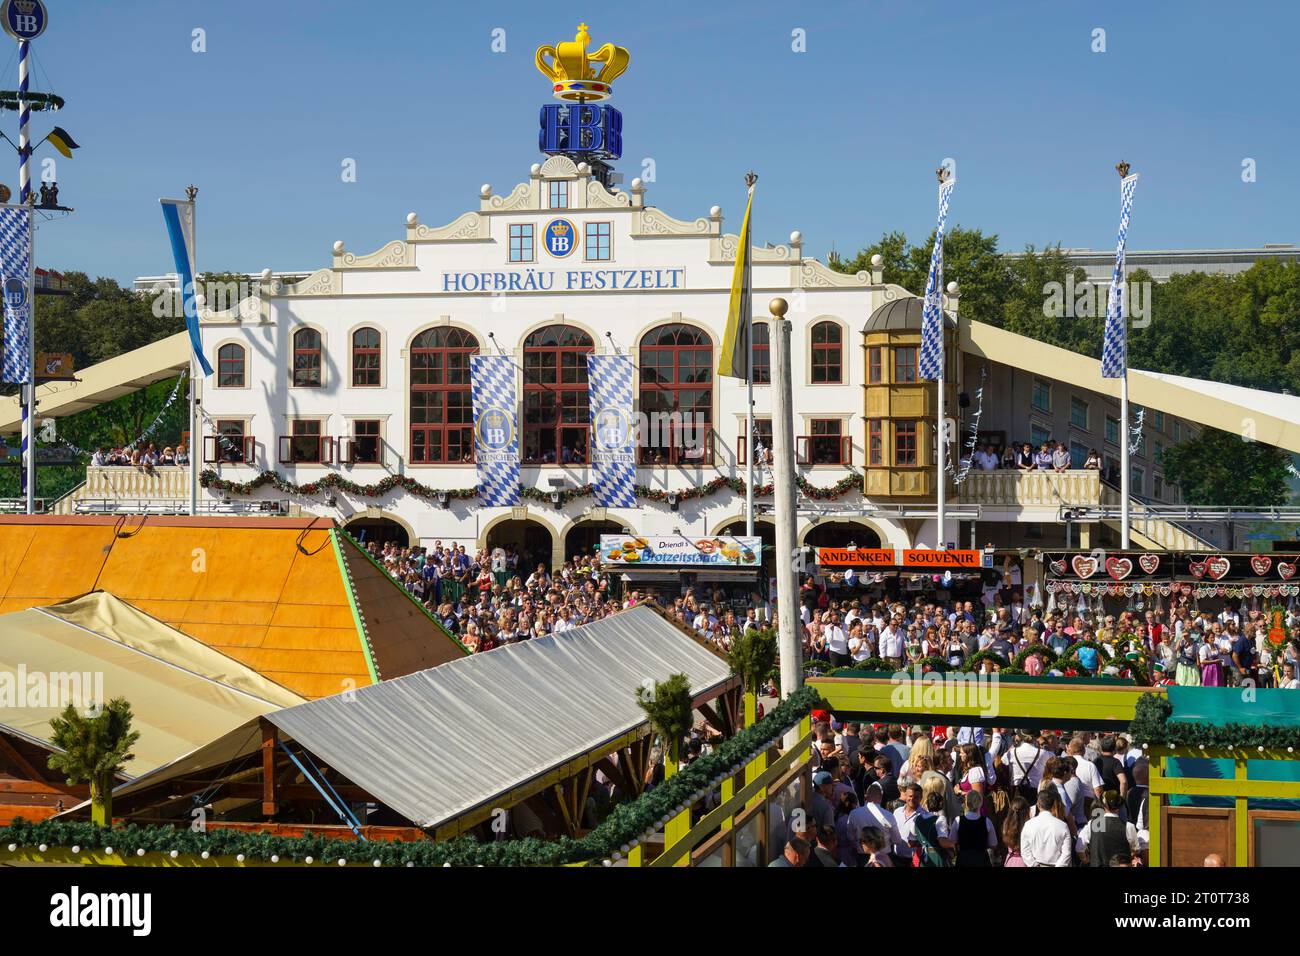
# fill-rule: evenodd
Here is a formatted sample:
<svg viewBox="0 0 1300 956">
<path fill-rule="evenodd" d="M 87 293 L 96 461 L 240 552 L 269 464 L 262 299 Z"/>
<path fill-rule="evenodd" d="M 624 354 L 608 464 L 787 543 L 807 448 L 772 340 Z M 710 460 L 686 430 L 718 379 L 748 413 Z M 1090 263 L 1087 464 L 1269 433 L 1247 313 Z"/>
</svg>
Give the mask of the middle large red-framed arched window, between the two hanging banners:
<svg viewBox="0 0 1300 956">
<path fill-rule="evenodd" d="M 524 339 L 524 462 L 588 460 L 586 356 L 594 347 L 589 334 L 567 325 Z"/>
</svg>

